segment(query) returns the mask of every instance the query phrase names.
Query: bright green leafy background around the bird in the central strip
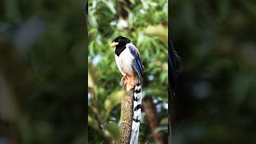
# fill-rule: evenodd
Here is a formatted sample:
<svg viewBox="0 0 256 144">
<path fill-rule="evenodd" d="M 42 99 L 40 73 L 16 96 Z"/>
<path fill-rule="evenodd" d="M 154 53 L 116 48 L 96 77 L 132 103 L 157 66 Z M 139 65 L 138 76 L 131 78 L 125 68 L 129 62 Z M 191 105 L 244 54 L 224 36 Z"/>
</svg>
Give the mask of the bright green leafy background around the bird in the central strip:
<svg viewBox="0 0 256 144">
<path fill-rule="evenodd" d="M 89 1 L 89 143 L 118 142 L 122 74 L 110 43 L 124 35 L 138 47 L 146 68 L 139 143 L 167 143 L 168 2 Z"/>
</svg>

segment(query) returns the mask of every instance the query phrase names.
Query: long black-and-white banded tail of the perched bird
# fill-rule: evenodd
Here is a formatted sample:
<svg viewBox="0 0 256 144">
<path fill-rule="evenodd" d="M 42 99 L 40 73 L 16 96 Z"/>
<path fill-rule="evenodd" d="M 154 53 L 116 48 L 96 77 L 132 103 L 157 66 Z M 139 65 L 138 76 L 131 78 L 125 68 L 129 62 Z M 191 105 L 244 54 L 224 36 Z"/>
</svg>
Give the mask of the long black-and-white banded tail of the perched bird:
<svg viewBox="0 0 256 144">
<path fill-rule="evenodd" d="M 132 131 L 130 134 L 130 144 L 138 143 L 139 125 L 141 121 L 142 107 L 142 85 L 141 79 L 136 78 L 136 86 L 134 88 L 134 116 L 132 123 Z"/>
</svg>

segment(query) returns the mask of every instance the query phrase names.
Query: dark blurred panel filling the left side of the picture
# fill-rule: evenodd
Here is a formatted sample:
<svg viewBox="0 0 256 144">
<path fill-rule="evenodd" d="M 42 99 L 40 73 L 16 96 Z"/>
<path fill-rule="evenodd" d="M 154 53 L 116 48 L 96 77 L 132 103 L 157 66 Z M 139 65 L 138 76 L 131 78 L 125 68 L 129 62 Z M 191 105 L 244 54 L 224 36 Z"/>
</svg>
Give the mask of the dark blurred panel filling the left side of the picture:
<svg viewBox="0 0 256 144">
<path fill-rule="evenodd" d="M 86 140 L 85 1 L 0 1 L 0 143 Z"/>
</svg>

